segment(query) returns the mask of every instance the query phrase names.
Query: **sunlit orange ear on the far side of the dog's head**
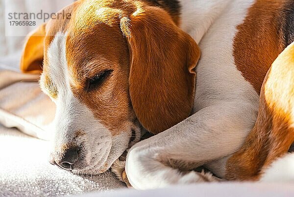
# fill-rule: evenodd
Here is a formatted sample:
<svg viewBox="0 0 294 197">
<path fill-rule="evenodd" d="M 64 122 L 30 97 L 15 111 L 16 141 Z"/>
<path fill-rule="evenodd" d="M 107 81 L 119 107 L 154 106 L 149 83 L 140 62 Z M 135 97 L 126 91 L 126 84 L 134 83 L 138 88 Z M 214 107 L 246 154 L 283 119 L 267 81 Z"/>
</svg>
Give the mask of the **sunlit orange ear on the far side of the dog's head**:
<svg viewBox="0 0 294 197">
<path fill-rule="evenodd" d="M 21 71 L 24 73 L 40 73 L 44 57 L 44 39 L 46 24 L 39 26 L 27 35 L 21 59 Z"/>
</svg>

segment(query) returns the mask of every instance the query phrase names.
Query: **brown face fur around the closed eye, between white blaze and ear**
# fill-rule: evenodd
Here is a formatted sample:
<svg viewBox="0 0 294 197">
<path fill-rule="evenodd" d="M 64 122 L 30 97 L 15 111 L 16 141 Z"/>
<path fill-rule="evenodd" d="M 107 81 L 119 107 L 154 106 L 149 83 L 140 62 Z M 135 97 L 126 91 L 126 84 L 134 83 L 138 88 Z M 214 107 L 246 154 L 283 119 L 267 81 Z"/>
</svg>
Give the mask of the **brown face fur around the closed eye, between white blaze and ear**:
<svg viewBox="0 0 294 197">
<path fill-rule="evenodd" d="M 113 135 L 127 131 L 135 119 L 128 96 L 128 46 L 119 29 L 116 10 L 103 9 L 95 18 L 99 6 L 80 5 L 68 29 L 66 56 L 73 94 L 106 126 Z M 85 10 L 86 9 L 86 10 Z M 110 20 L 101 15 L 106 14 Z M 82 25 L 89 23 L 85 28 Z M 108 24 L 108 25 L 107 25 Z M 95 39 L 93 39 L 95 38 Z M 85 53 L 86 52 L 86 53 Z M 103 70 L 113 70 L 111 76 L 97 90 L 87 91 L 90 78 Z"/>
</svg>

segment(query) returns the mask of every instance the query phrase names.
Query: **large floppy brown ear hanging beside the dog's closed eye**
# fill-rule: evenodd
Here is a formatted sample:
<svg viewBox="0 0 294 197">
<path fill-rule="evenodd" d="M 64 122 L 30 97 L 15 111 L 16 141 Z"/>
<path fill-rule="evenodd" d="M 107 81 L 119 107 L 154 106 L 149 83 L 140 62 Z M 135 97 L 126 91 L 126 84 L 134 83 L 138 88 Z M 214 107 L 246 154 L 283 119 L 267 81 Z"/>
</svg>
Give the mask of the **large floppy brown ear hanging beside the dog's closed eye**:
<svg viewBox="0 0 294 197">
<path fill-rule="evenodd" d="M 191 115 L 200 50 L 160 8 L 139 8 L 121 20 L 121 29 L 129 44 L 134 111 L 149 132 L 160 133 Z"/>
</svg>

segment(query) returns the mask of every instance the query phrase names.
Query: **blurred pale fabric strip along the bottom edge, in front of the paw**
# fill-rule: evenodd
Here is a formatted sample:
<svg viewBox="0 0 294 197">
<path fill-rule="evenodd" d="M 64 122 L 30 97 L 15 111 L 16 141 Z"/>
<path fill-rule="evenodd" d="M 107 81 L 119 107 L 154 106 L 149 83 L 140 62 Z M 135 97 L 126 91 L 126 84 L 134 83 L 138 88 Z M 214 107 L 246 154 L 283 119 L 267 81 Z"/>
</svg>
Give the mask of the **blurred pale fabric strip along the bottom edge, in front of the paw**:
<svg viewBox="0 0 294 197">
<path fill-rule="evenodd" d="M 199 183 L 146 191 L 124 189 L 78 197 L 294 197 L 294 187 L 277 183 Z"/>
</svg>

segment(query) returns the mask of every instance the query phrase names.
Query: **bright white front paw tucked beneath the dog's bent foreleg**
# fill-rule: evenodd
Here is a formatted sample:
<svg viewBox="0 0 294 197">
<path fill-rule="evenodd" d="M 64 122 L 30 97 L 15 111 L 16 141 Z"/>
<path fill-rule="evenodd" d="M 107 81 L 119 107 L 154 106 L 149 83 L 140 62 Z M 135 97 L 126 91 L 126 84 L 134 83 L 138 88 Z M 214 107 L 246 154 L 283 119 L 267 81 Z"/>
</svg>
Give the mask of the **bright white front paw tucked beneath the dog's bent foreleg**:
<svg viewBox="0 0 294 197">
<path fill-rule="evenodd" d="M 178 169 L 161 163 L 157 159 L 156 153 L 142 149 L 142 147 L 131 148 L 128 152 L 125 170 L 131 185 L 141 190 L 177 184 L 220 181 L 209 172 L 181 173 Z"/>
</svg>

